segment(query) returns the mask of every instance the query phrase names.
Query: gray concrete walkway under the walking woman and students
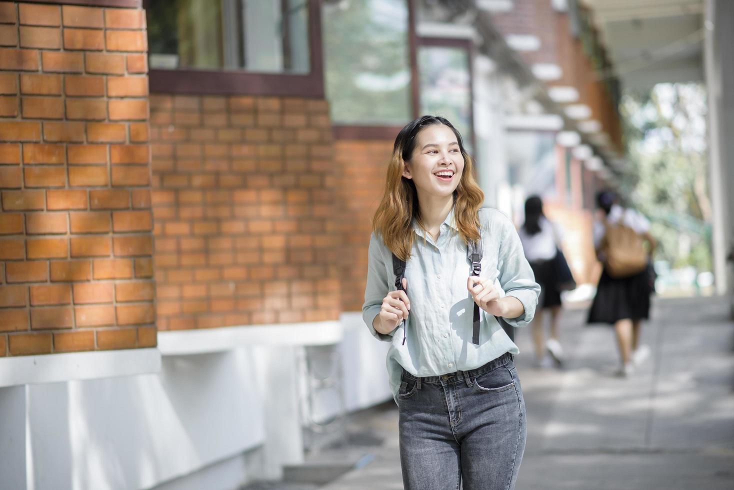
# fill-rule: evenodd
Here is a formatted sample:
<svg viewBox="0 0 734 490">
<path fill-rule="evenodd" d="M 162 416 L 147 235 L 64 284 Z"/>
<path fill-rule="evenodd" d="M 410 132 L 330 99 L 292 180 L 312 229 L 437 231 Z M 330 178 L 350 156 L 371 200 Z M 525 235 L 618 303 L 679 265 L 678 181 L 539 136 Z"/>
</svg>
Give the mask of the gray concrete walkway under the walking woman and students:
<svg viewBox="0 0 734 490">
<path fill-rule="evenodd" d="M 584 327 L 585 314 L 564 312 L 562 371 L 532 368 L 528 332 L 517 336 L 528 411 L 517 489 L 733 489 L 734 323 L 727 304 L 655 301 L 643 331 L 651 356 L 629 379 L 612 374 L 611 329 Z M 363 467 L 321 488 L 402 489 L 396 407 L 357 414 L 349 427 L 384 442 L 362 448 L 372 455 Z"/>
</svg>

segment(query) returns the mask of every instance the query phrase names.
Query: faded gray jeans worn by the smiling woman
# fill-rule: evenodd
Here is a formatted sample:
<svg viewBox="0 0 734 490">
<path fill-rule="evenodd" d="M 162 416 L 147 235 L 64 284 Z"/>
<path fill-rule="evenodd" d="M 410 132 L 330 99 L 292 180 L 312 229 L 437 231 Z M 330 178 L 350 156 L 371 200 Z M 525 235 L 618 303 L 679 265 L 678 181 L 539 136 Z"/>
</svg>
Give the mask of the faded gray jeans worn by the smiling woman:
<svg viewBox="0 0 734 490">
<path fill-rule="evenodd" d="M 512 490 L 523 459 L 525 401 L 512 356 L 416 378 L 398 394 L 406 490 Z"/>
</svg>

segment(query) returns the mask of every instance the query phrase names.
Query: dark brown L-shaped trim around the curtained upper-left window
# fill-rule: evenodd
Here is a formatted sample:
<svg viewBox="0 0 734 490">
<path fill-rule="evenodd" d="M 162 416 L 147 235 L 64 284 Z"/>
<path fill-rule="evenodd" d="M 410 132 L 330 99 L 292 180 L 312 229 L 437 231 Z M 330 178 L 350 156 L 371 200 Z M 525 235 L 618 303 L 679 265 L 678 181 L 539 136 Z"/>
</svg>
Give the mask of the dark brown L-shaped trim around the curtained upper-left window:
<svg viewBox="0 0 734 490">
<path fill-rule="evenodd" d="M 145 0 L 146 4 L 148 1 Z M 152 0 L 155 1 L 155 0 Z M 254 73 L 235 70 L 150 70 L 150 92 L 192 95 L 291 95 L 324 98 L 321 1 L 308 0 L 310 73 Z"/>
</svg>

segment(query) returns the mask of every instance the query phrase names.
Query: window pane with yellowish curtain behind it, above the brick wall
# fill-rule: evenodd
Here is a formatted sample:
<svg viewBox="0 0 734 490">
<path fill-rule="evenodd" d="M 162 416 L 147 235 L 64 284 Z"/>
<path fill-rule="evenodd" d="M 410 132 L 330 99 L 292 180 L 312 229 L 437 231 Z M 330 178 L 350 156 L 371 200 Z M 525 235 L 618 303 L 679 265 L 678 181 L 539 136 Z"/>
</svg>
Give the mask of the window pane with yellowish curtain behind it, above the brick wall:
<svg viewBox="0 0 734 490">
<path fill-rule="evenodd" d="M 308 0 L 154 0 L 151 68 L 308 73 Z"/>
</svg>

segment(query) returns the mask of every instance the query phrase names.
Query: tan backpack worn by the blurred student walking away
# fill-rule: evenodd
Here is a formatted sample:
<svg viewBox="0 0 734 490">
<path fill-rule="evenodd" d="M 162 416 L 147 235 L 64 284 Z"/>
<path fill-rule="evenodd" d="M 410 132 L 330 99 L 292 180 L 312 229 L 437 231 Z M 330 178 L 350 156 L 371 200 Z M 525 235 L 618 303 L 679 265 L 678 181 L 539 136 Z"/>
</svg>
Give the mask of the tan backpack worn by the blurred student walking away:
<svg viewBox="0 0 734 490">
<path fill-rule="evenodd" d="M 606 224 L 601 249 L 606 257 L 604 266 L 611 277 L 630 277 L 647 267 L 642 236 L 625 224 Z"/>
</svg>

